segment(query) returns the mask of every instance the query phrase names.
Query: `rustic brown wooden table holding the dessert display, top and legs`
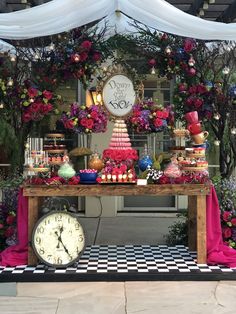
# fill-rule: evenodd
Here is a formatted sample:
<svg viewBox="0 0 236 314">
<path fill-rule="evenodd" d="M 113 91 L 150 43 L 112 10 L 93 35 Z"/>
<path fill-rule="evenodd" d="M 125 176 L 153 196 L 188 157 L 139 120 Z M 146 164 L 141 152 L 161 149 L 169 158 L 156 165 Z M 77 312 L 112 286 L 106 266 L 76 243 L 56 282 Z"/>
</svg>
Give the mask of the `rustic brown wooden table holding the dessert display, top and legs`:
<svg viewBox="0 0 236 314">
<path fill-rule="evenodd" d="M 23 195 L 29 198 L 28 239 L 31 243 L 33 227 L 39 217 L 43 197 L 48 196 L 126 196 L 126 195 L 187 195 L 188 196 L 188 236 L 190 250 L 197 250 L 197 262 L 206 263 L 206 195 L 210 185 L 204 184 L 132 184 L 104 185 L 31 185 L 23 187 Z M 29 245 L 28 264 L 37 264 L 37 258 Z"/>
</svg>

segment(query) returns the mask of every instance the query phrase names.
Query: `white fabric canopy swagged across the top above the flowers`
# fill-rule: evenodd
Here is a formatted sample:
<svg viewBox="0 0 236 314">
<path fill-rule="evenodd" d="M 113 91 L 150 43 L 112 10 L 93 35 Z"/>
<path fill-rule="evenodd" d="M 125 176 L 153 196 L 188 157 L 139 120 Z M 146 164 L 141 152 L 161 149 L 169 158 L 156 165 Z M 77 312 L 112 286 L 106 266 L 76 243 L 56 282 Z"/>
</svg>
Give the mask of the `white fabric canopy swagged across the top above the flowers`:
<svg viewBox="0 0 236 314">
<path fill-rule="evenodd" d="M 117 14 L 117 11 L 121 13 Z M 108 35 L 132 31 L 129 22 L 133 19 L 175 35 L 236 40 L 235 23 L 206 21 L 164 0 L 52 0 L 30 9 L 0 14 L 0 38 L 53 35 L 100 19 L 108 21 Z"/>
</svg>

